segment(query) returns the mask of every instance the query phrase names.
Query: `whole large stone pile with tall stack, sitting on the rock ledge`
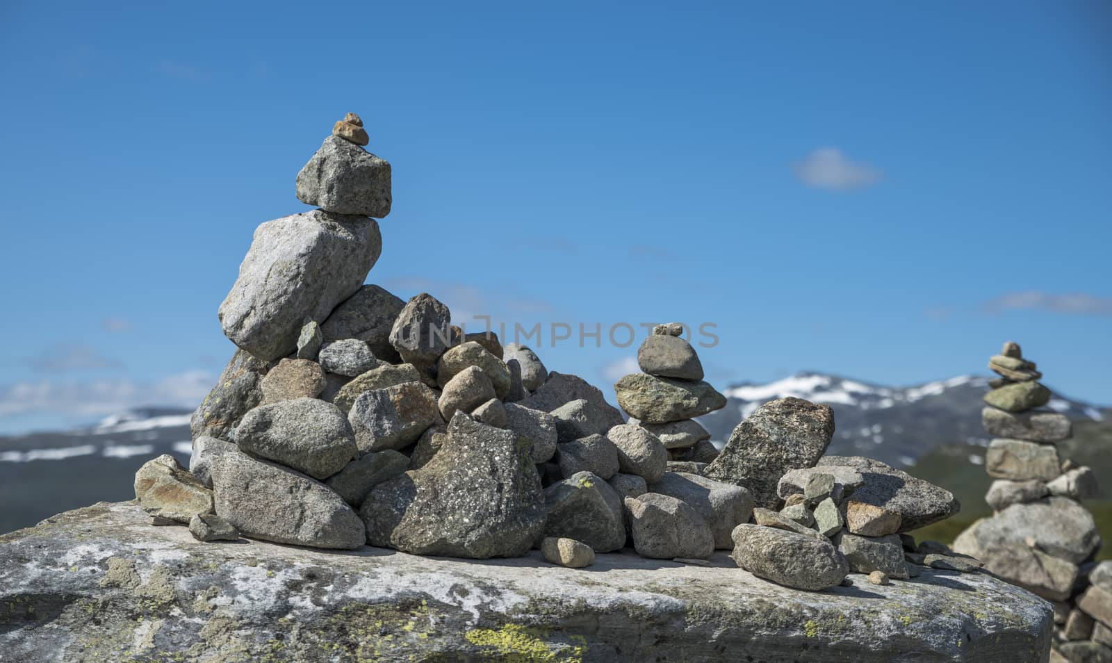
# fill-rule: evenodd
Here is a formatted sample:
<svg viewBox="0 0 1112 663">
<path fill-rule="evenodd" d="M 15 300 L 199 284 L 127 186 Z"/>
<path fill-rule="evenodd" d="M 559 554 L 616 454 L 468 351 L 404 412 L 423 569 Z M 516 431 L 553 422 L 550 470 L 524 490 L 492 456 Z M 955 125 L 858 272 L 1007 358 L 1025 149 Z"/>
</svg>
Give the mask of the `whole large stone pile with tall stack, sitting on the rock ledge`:
<svg viewBox="0 0 1112 663">
<path fill-rule="evenodd" d="M 391 204 L 390 165 L 368 141 L 348 113 L 297 176 L 317 209 L 256 229 L 219 309 L 238 349 L 193 414 L 189 468 L 160 456 L 136 475 L 155 524 L 469 558 L 539 548 L 569 567 L 625 547 L 692 564 L 732 550 L 802 590 L 977 567 L 903 534 L 955 513 L 953 495 L 823 456 L 828 406 L 771 402 L 716 451 L 694 417 L 726 399 L 681 324 L 657 326 L 637 353 L 644 373 L 615 385 L 626 423 L 533 349 L 454 327 L 431 295 L 364 285 Z"/>
</svg>

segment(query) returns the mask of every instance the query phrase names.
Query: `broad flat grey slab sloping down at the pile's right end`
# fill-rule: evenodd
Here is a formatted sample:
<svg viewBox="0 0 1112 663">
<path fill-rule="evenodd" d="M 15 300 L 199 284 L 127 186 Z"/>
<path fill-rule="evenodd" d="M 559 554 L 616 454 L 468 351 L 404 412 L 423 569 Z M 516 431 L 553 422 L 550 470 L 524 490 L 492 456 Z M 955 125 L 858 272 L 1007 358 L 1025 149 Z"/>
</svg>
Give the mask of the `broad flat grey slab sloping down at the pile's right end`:
<svg viewBox="0 0 1112 663">
<path fill-rule="evenodd" d="M 900 532 L 911 532 L 947 518 L 961 509 L 954 495 L 902 469 L 864 456 L 824 456 L 818 467 L 824 472 L 852 467 L 861 473 L 865 484 L 846 497 L 846 504 L 858 502 L 900 514 Z"/>
</svg>

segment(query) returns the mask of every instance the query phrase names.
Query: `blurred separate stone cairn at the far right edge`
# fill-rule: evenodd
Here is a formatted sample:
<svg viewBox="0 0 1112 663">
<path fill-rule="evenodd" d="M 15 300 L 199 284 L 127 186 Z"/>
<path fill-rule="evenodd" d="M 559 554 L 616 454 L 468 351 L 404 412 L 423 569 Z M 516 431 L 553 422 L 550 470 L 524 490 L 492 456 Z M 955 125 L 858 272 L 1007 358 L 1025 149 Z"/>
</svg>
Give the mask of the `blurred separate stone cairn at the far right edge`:
<svg viewBox="0 0 1112 663">
<path fill-rule="evenodd" d="M 1092 562 L 1101 537 L 1080 504 L 1096 495 L 1096 478 L 1061 458 L 1056 445 L 1070 438 L 1072 425 L 1065 415 L 1039 409 L 1051 393 L 1019 344 L 1005 343 L 989 368 L 1000 376 L 981 412 L 994 437 L 985 469 L 995 481 L 985 502 L 995 513 L 959 535 L 954 550 L 1054 605 L 1058 660 L 1112 661 L 1112 563 Z"/>
</svg>

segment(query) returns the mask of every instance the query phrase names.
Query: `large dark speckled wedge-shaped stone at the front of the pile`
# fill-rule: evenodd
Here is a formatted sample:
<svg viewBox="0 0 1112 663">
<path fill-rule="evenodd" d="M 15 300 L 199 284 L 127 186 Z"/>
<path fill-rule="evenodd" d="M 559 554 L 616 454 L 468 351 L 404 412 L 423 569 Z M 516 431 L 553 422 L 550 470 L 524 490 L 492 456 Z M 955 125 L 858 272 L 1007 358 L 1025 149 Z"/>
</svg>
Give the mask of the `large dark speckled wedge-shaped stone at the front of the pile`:
<svg viewBox="0 0 1112 663">
<path fill-rule="evenodd" d="M 523 555 L 545 526 L 528 447 L 464 413 L 431 461 L 375 486 L 359 514 L 371 545 L 478 560 Z"/>
</svg>

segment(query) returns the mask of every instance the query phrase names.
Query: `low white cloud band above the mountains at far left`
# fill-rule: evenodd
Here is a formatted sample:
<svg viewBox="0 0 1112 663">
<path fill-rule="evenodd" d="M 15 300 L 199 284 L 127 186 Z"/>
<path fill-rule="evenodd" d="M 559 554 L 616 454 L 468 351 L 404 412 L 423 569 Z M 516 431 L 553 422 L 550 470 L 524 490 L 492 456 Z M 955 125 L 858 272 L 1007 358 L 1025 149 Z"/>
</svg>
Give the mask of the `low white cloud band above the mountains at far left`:
<svg viewBox="0 0 1112 663">
<path fill-rule="evenodd" d="M 128 378 L 20 382 L 0 385 L 0 417 L 37 412 L 88 417 L 143 405 L 196 407 L 215 382 L 205 370 L 187 370 L 155 383 Z"/>
</svg>

